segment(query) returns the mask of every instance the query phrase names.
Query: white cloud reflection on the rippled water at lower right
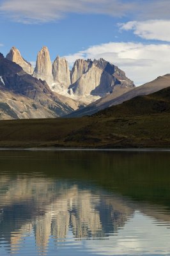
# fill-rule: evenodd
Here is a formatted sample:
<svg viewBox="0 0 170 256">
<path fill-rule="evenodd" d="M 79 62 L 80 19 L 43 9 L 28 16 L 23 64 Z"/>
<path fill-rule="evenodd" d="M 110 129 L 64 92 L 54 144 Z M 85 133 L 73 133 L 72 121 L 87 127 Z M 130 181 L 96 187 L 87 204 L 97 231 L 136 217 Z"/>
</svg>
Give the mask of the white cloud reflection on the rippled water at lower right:
<svg viewBox="0 0 170 256">
<path fill-rule="evenodd" d="M 169 234 L 163 222 L 135 211 L 125 226 L 118 228 L 116 236 L 84 241 L 83 246 L 94 255 L 169 255 Z"/>
</svg>

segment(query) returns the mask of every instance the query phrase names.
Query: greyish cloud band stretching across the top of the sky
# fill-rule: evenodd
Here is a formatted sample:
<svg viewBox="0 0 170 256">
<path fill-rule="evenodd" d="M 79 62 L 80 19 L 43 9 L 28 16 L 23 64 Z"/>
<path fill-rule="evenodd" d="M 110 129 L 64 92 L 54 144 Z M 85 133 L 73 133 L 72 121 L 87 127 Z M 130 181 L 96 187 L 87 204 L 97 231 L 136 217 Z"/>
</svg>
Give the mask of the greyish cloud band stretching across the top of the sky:
<svg viewBox="0 0 170 256">
<path fill-rule="evenodd" d="M 50 22 L 66 13 L 98 13 L 134 20 L 169 19 L 169 0 L 1 0 L 0 14 L 17 22 Z M 135 18 L 134 18 L 135 17 Z"/>
</svg>

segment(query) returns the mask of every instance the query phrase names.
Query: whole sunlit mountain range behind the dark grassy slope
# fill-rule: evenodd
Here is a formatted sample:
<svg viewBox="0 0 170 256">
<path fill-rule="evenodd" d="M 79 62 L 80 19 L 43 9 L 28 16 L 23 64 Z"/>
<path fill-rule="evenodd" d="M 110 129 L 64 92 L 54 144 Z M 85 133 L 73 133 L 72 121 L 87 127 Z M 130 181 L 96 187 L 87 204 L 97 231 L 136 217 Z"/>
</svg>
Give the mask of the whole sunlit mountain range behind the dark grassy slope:
<svg viewBox="0 0 170 256">
<path fill-rule="evenodd" d="M 0 119 L 55 118 L 93 115 L 139 95 L 170 86 L 170 75 L 135 87 L 125 72 L 100 60 L 76 60 L 70 70 L 65 58 L 53 62 L 47 47 L 36 66 L 12 47 L 0 55 Z"/>
</svg>

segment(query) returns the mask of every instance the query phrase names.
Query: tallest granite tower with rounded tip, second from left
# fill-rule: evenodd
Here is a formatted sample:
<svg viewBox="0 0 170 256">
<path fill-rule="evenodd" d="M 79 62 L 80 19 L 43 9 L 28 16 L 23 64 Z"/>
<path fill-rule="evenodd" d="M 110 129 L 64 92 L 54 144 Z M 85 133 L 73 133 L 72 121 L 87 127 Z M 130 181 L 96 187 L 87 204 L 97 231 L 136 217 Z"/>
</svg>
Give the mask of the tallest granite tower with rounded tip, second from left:
<svg viewBox="0 0 170 256">
<path fill-rule="evenodd" d="M 52 64 L 50 61 L 49 50 L 46 46 L 43 46 L 41 51 L 38 52 L 33 76 L 38 79 L 45 80 L 48 84 L 53 83 Z"/>
</svg>

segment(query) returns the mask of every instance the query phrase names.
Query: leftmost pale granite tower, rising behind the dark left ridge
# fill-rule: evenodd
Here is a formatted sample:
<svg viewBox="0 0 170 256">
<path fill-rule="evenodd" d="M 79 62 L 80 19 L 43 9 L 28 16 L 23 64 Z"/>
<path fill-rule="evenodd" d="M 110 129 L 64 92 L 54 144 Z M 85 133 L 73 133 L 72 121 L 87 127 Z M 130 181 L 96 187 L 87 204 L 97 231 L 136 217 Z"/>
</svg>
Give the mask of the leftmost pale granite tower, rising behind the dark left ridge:
<svg viewBox="0 0 170 256">
<path fill-rule="evenodd" d="M 24 58 L 22 58 L 20 51 L 17 48 L 12 47 L 10 52 L 6 55 L 6 59 L 20 65 L 20 67 L 22 67 L 23 70 L 26 71 L 28 74 L 33 74 L 34 70 L 31 63 L 27 62 L 26 60 L 24 60 Z"/>
</svg>

